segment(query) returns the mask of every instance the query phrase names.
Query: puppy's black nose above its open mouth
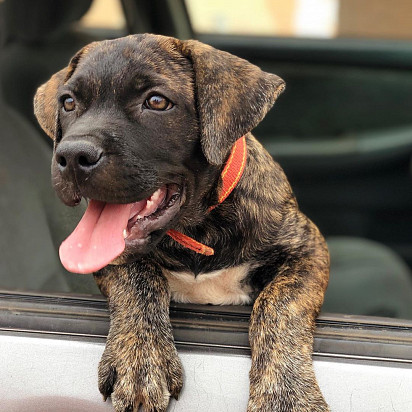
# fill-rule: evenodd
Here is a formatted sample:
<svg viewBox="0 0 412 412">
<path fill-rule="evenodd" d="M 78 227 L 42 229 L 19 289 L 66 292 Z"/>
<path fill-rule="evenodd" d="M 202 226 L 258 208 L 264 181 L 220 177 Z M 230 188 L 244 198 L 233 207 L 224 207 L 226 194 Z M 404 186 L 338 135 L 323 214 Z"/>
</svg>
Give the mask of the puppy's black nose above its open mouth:
<svg viewBox="0 0 412 412">
<path fill-rule="evenodd" d="M 63 141 L 57 147 L 55 156 L 61 172 L 70 170 L 75 173 L 88 173 L 99 165 L 103 150 L 84 140 Z"/>
</svg>

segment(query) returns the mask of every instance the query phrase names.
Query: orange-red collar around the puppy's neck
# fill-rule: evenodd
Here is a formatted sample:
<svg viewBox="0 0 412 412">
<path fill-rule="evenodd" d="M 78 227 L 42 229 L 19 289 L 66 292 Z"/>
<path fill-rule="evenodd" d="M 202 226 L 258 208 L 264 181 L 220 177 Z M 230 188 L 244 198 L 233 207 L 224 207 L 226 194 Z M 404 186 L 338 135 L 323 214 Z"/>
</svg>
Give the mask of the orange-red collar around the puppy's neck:
<svg viewBox="0 0 412 412">
<path fill-rule="evenodd" d="M 238 184 L 240 178 L 242 177 L 243 171 L 246 165 L 246 138 L 245 136 L 238 139 L 232 147 L 230 156 L 225 164 L 225 167 L 221 174 L 222 179 L 222 190 L 219 194 L 218 203 L 209 208 L 209 212 L 222 203 L 233 191 L 233 189 Z M 193 250 L 196 253 L 202 255 L 211 256 L 215 251 L 189 236 L 178 232 L 177 230 L 170 229 L 166 232 L 172 239 L 180 243 L 187 249 Z"/>
</svg>

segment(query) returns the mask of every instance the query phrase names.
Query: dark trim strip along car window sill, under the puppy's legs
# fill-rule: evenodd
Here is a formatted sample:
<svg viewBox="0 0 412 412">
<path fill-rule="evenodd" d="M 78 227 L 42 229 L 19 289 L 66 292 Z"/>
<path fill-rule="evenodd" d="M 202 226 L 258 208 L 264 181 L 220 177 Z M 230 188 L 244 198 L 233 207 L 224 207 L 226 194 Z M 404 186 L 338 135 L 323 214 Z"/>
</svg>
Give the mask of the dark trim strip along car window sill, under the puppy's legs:
<svg viewBox="0 0 412 412">
<path fill-rule="evenodd" d="M 250 354 L 251 306 L 172 303 L 177 347 Z M 104 341 L 109 330 L 106 301 L 98 296 L 0 291 L 0 332 Z M 314 357 L 412 364 L 412 320 L 321 314 Z"/>
</svg>

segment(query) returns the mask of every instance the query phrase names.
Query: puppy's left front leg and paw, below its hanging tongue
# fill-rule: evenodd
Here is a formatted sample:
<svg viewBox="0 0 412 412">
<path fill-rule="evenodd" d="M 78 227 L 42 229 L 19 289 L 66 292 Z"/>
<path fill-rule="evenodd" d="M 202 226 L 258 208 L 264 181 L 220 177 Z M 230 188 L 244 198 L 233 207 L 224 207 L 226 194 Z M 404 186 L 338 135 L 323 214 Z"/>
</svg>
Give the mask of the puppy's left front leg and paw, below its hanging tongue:
<svg viewBox="0 0 412 412">
<path fill-rule="evenodd" d="M 160 268 L 142 260 L 95 275 L 107 297 L 110 330 L 99 389 L 116 411 L 165 411 L 183 384 L 169 319 L 170 292 Z"/>
</svg>

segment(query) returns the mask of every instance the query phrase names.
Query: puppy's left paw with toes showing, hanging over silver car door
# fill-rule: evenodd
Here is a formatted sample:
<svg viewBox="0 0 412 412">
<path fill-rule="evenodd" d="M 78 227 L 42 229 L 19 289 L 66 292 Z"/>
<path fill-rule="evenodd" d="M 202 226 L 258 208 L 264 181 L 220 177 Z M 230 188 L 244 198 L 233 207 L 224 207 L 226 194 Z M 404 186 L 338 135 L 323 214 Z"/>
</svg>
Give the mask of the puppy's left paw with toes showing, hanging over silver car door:
<svg viewBox="0 0 412 412">
<path fill-rule="evenodd" d="M 112 398 L 116 412 L 166 411 L 170 396 L 183 385 L 182 365 L 174 345 L 160 347 L 136 336 L 107 342 L 99 364 L 99 390 Z"/>
</svg>

